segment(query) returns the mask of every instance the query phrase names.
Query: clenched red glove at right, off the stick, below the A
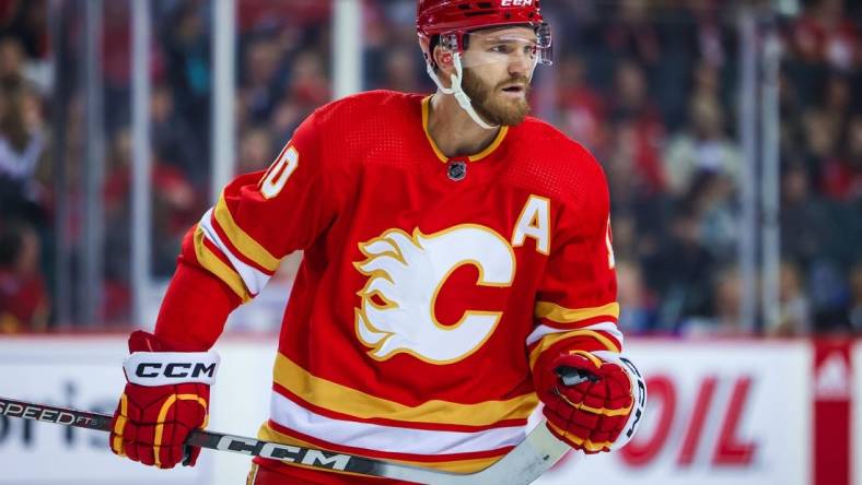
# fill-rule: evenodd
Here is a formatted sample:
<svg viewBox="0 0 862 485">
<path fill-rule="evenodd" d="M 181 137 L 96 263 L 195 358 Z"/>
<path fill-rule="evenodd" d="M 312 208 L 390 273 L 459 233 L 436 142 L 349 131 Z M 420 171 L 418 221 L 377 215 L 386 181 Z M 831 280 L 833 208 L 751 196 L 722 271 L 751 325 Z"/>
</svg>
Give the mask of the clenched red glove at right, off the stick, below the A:
<svg viewBox="0 0 862 485">
<path fill-rule="evenodd" d="M 646 387 L 630 360 L 609 352 L 573 351 L 540 358 L 534 376 L 548 428 L 572 448 L 610 451 L 634 435 Z"/>
</svg>

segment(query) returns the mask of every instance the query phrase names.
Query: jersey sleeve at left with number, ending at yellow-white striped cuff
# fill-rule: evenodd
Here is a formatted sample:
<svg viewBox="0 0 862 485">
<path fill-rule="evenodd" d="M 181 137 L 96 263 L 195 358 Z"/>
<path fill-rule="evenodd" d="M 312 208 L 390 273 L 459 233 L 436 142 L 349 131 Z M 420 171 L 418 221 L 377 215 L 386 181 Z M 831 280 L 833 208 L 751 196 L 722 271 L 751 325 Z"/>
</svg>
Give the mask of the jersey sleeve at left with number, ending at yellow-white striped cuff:
<svg viewBox="0 0 862 485">
<path fill-rule="evenodd" d="M 194 232 L 187 260 L 226 284 L 243 301 L 254 298 L 281 260 L 305 249 L 336 213 L 321 127 L 312 115 L 272 165 L 230 182 Z"/>
</svg>

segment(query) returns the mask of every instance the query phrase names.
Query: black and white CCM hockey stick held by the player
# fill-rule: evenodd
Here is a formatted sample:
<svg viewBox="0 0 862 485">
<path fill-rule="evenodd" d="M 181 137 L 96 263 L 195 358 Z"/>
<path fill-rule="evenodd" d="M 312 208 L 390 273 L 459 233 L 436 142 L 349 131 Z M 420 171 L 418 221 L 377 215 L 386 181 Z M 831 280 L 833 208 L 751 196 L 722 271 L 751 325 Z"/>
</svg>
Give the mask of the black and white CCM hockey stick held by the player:
<svg viewBox="0 0 862 485">
<path fill-rule="evenodd" d="M 0 398 L 0 416 L 20 417 L 108 433 L 110 431 L 113 418 L 108 414 L 34 404 L 4 398 Z M 191 431 L 186 445 L 271 458 L 316 469 L 384 476 L 429 485 L 525 485 L 538 478 L 539 475 L 551 468 L 554 463 L 570 450 L 568 445 L 550 434 L 548 427 L 545 426 L 544 419 L 527 435 L 526 439 L 497 463 L 480 472 L 470 474 L 432 471 L 354 454 L 336 453 L 292 445 L 279 445 L 255 438 L 205 430 Z"/>
</svg>

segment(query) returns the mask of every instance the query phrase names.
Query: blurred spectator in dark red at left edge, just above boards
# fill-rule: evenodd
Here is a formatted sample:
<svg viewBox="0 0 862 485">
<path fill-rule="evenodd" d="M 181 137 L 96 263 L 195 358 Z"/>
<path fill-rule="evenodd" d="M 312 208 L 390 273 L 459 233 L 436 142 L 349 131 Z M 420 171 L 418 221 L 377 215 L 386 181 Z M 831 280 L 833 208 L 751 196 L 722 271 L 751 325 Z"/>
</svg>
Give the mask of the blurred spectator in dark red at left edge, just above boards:
<svg viewBox="0 0 862 485">
<path fill-rule="evenodd" d="M 39 239 L 30 224 L 0 224 L 0 333 L 47 328 L 50 300 L 38 257 Z"/>
</svg>

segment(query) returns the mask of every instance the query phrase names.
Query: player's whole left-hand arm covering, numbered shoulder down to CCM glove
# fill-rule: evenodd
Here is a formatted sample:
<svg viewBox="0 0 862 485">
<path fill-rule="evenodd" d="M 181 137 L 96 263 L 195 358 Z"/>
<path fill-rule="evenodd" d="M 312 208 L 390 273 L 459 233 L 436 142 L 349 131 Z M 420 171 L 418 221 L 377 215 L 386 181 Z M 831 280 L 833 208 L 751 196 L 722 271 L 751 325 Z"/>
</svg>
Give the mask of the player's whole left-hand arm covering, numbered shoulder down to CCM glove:
<svg viewBox="0 0 862 485">
<path fill-rule="evenodd" d="M 224 187 L 186 235 L 156 335 L 186 347 L 211 346 L 228 315 L 260 293 L 281 260 L 323 234 L 339 203 L 322 142 L 333 134 L 324 131 L 317 114 L 310 116 L 267 170 Z"/>
</svg>

